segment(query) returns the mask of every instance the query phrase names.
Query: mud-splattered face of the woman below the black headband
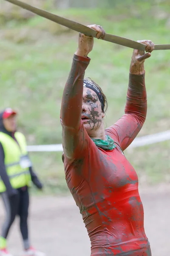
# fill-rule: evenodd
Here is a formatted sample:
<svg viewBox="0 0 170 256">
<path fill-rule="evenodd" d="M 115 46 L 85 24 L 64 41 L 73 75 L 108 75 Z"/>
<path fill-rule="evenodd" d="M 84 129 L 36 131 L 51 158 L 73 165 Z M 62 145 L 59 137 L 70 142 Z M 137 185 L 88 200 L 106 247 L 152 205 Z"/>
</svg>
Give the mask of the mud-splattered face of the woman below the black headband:
<svg viewBox="0 0 170 256">
<path fill-rule="evenodd" d="M 97 94 L 89 89 L 83 89 L 82 122 L 86 131 L 96 131 L 102 124 L 102 106 Z"/>
</svg>

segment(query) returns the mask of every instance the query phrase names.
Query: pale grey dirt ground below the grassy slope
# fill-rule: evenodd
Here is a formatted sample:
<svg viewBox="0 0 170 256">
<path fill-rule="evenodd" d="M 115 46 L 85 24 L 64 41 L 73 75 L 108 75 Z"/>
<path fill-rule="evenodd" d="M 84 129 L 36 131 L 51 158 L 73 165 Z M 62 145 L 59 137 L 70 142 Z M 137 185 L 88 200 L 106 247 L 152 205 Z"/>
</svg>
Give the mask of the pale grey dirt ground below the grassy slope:
<svg viewBox="0 0 170 256">
<path fill-rule="evenodd" d="M 153 256 L 170 255 L 170 185 L 140 190 L 145 212 L 145 232 Z M 0 224 L 3 206 L 0 203 Z M 32 197 L 30 236 L 34 247 L 46 256 L 90 256 L 90 241 L 82 217 L 70 197 Z M 8 239 L 14 256 L 22 255 L 22 243 L 15 221 Z"/>
</svg>

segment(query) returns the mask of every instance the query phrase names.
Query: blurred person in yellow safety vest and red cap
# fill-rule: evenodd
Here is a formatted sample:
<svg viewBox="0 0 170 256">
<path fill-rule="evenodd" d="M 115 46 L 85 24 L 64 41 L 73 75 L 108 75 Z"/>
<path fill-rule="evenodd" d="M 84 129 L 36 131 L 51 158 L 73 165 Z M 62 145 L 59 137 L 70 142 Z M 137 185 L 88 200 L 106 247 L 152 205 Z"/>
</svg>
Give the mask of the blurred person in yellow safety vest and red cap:
<svg viewBox="0 0 170 256">
<path fill-rule="evenodd" d="M 17 131 L 17 112 L 7 108 L 0 113 L 0 195 L 6 218 L 0 236 L 0 256 L 11 256 L 7 251 L 7 236 L 16 215 L 20 216 L 23 256 L 44 256 L 31 247 L 28 237 L 29 187 L 31 181 L 42 189 L 28 157 L 26 138 Z"/>
</svg>

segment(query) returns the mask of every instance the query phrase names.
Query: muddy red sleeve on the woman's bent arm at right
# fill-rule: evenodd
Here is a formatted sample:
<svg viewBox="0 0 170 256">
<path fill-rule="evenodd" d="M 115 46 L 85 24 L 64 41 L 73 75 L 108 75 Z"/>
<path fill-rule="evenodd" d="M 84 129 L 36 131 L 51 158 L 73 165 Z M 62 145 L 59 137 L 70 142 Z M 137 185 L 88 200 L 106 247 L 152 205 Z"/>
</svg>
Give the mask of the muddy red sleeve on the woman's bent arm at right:
<svg viewBox="0 0 170 256">
<path fill-rule="evenodd" d="M 125 114 L 114 125 L 106 129 L 108 134 L 117 137 L 122 150 L 125 150 L 141 130 L 147 113 L 147 96 L 143 75 L 129 74 L 129 86 Z"/>
</svg>

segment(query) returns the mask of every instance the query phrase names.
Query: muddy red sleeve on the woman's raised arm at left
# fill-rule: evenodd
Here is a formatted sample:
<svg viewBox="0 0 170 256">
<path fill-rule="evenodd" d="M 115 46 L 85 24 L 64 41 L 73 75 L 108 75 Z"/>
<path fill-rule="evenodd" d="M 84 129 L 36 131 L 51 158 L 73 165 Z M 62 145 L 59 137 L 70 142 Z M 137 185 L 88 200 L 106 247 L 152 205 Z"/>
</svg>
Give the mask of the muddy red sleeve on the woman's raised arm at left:
<svg viewBox="0 0 170 256">
<path fill-rule="evenodd" d="M 68 158 L 80 155 L 85 147 L 87 136 L 81 125 L 82 93 L 85 70 L 90 58 L 74 54 L 71 71 L 65 84 L 60 119 L 62 124 L 62 144 Z"/>
</svg>

